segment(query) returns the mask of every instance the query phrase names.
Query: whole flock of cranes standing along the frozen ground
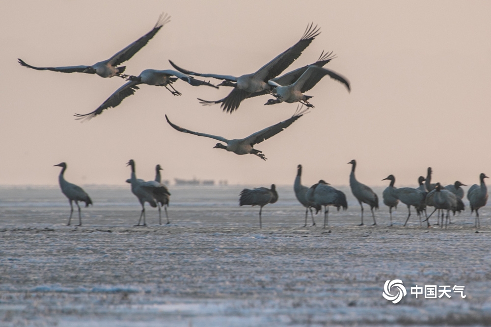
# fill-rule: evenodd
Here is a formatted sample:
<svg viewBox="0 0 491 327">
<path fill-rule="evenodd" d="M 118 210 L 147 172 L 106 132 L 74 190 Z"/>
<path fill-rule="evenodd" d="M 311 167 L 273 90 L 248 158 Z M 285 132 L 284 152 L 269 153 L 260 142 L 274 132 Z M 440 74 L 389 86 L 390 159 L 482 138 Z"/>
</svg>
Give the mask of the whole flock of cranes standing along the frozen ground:
<svg viewBox="0 0 491 327">
<path fill-rule="evenodd" d="M 373 225 L 377 225 L 375 220 L 374 208 L 379 208 L 379 197 L 377 194 L 367 185 L 360 183 L 355 177 L 355 168 L 356 161 L 351 160 L 348 164 L 352 165 L 351 173 L 350 173 L 350 187 L 353 195 L 356 200 L 360 204 L 361 207 L 361 224 L 363 224 L 363 203 L 366 203 L 370 206 L 370 211 L 372 212 Z M 130 160 L 127 163 L 128 166 L 131 166 L 131 178 L 127 179 L 126 182 L 131 184 L 131 190 L 133 194 L 138 198 L 138 201 L 141 204 L 141 213 L 138 219 L 138 224 L 135 226 L 146 226 L 145 219 L 145 202 L 148 202 L 152 207 L 159 208 L 159 224 L 162 225 L 162 217 L 161 217 L 161 207 L 164 207 L 165 216 L 167 218 L 167 224 L 170 223 L 169 217 L 167 214 L 167 206 L 169 205 L 170 200 L 170 192 L 162 184 L 160 171 L 162 170 L 160 165 L 155 167 L 155 180 L 144 181 L 143 179 L 136 178 L 135 173 L 135 161 Z M 64 178 L 64 173 L 66 170 L 66 163 L 62 162 L 55 166 L 62 167 L 61 172 L 59 174 L 58 180 L 61 187 L 61 191 L 68 198 L 70 202 L 70 218 L 68 219 L 68 224 L 70 225 L 70 221 L 72 219 L 73 214 L 73 204 L 75 201 L 79 209 L 79 225 L 82 226 L 82 218 L 81 218 L 81 209 L 79 206 L 79 201 L 85 202 L 85 206 L 92 204 L 92 200 L 88 196 L 88 194 L 79 186 L 69 183 Z M 411 187 L 402 187 L 396 188 L 395 177 L 393 175 L 389 175 L 382 180 L 390 180 L 390 185 L 383 190 L 382 197 L 383 203 L 389 207 L 390 214 L 390 226 L 392 226 L 392 208 L 397 208 L 399 201 L 406 204 L 408 206 L 408 218 L 404 223 L 404 226 L 409 221 L 409 217 L 411 215 L 410 207 L 413 206 L 416 209 L 416 212 L 419 216 L 419 222 L 421 225 L 421 213 L 425 213 L 427 226 L 430 227 L 429 218 L 436 210 L 442 210 L 441 213 L 441 227 L 443 227 L 443 218 L 444 212 L 447 211 L 445 227 L 449 222 L 449 212 L 450 210 L 455 212 L 461 212 L 464 210 L 464 202 L 462 199 L 464 198 L 464 190 L 461 186 L 466 186 L 460 181 L 456 181 L 454 184 L 447 185 L 443 187 L 440 183 L 431 183 L 431 167 L 428 168 L 427 177 L 420 176 L 418 178 L 419 186 L 417 188 Z M 348 208 L 348 202 L 346 201 L 346 195 L 339 190 L 336 190 L 334 187 L 330 186 L 329 183 L 324 181 L 323 179 L 319 180 L 318 183 L 312 185 L 310 188 L 303 186 L 301 184 L 301 175 L 302 175 L 302 166 L 298 165 L 297 167 L 297 176 L 295 177 L 295 182 L 293 185 L 293 189 L 295 191 L 295 196 L 297 200 L 305 207 L 305 224 L 307 226 L 307 216 L 310 211 L 310 215 L 312 217 L 312 226 L 315 226 L 314 215 L 312 212 L 312 208 L 316 209 L 316 214 L 322 209 L 324 206 L 324 228 L 328 225 L 328 213 L 329 206 L 334 206 L 339 211 L 340 208 L 346 210 Z M 485 178 L 489 178 L 484 173 L 479 176 L 480 184 L 472 185 L 467 191 L 467 199 L 470 203 L 471 212 L 476 211 L 476 219 L 475 226 L 480 227 L 479 222 L 479 209 L 486 205 L 488 201 L 488 188 L 484 182 Z M 266 204 L 274 203 L 278 201 L 278 193 L 276 192 L 275 185 L 271 185 L 271 189 L 266 187 L 259 187 L 254 189 L 244 189 L 239 194 L 239 205 L 259 205 L 259 227 L 262 228 L 262 210 Z M 426 214 L 426 207 L 432 206 L 435 210 L 428 216 Z M 437 225 L 439 222 L 439 214 L 437 218 Z M 143 224 L 140 224 L 143 218 Z"/>
</svg>

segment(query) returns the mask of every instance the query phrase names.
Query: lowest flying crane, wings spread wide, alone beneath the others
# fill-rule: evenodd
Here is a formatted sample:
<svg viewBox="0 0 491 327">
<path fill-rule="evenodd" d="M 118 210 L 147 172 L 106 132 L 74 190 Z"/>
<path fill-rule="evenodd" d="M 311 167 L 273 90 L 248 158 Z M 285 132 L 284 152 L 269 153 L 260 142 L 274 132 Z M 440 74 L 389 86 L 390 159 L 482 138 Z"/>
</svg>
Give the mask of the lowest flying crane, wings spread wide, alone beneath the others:
<svg viewBox="0 0 491 327">
<path fill-rule="evenodd" d="M 307 109 L 308 110 L 308 109 Z M 216 136 L 216 135 L 211 135 L 211 134 L 205 134 L 205 133 L 199 133 L 199 132 L 193 132 L 192 130 L 177 126 L 173 123 L 170 122 L 170 120 L 167 118 L 167 115 L 165 115 L 165 119 L 167 120 L 167 123 L 169 123 L 170 126 L 172 126 L 174 129 L 183 132 L 183 133 L 189 133 L 197 136 L 203 136 L 203 137 L 209 137 L 221 142 L 226 143 L 226 145 L 223 145 L 222 143 L 217 143 L 213 148 L 214 149 L 224 149 L 226 151 L 234 152 L 235 154 L 254 154 L 260 157 L 263 160 L 266 160 L 266 157 L 264 156 L 262 151 L 256 150 L 253 148 L 255 144 L 261 143 L 264 140 L 269 139 L 270 137 L 278 134 L 281 132 L 283 129 L 286 127 L 290 126 L 295 122 L 297 119 L 299 119 L 301 116 L 305 114 L 306 110 L 301 110 L 300 111 L 297 109 L 297 112 L 290 117 L 289 119 L 279 122 L 278 124 L 275 124 L 273 126 L 266 127 L 258 132 L 255 132 L 243 139 L 233 139 L 229 140 L 221 136 Z"/>
</svg>

